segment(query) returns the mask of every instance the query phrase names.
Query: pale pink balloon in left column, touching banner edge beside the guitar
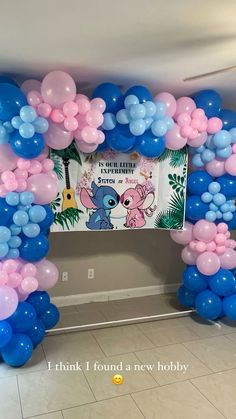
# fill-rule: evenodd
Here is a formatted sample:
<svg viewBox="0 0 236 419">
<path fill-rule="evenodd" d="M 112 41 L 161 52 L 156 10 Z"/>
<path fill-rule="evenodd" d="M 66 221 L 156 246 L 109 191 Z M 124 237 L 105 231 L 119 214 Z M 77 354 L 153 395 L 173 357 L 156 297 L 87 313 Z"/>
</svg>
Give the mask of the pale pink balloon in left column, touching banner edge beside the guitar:
<svg viewBox="0 0 236 419">
<path fill-rule="evenodd" d="M 47 173 L 30 176 L 27 181 L 27 189 L 33 192 L 35 204 L 45 205 L 52 202 L 58 192 L 57 181 Z"/>
</svg>

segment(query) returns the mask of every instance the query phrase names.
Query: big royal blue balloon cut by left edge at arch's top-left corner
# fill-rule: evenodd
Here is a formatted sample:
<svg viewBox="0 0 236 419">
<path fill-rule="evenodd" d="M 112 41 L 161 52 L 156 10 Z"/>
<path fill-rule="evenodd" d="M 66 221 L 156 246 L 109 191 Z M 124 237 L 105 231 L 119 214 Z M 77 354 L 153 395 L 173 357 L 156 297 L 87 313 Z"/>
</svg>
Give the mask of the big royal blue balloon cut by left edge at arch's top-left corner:
<svg viewBox="0 0 236 419">
<path fill-rule="evenodd" d="M 19 87 L 9 83 L 0 83 L 0 120 L 10 121 L 19 115 L 20 108 L 27 105 L 24 93 Z"/>
</svg>

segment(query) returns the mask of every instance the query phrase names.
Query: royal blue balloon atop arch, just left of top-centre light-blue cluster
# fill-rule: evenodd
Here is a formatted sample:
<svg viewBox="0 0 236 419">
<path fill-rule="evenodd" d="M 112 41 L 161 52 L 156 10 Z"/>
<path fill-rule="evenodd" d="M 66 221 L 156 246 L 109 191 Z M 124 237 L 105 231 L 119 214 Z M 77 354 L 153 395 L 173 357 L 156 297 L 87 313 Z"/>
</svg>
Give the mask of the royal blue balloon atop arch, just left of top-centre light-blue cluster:
<svg viewBox="0 0 236 419">
<path fill-rule="evenodd" d="M 106 102 L 106 112 L 116 113 L 123 108 L 123 95 L 119 86 L 116 84 L 99 84 L 94 90 L 92 97 L 99 97 Z"/>
</svg>

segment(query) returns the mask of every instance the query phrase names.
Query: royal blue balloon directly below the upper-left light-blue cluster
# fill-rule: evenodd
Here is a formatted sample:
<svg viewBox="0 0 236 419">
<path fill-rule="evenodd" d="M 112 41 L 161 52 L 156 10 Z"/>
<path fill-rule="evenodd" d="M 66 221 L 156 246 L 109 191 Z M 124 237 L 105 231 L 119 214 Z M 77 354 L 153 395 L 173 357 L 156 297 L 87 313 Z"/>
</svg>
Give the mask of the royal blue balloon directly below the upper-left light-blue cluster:
<svg viewBox="0 0 236 419">
<path fill-rule="evenodd" d="M 32 138 L 23 138 L 19 131 L 15 130 L 10 137 L 10 146 L 17 156 L 23 159 L 35 159 L 42 153 L 45 143 L 42 134 L 35 133 Z"/>
</svg>

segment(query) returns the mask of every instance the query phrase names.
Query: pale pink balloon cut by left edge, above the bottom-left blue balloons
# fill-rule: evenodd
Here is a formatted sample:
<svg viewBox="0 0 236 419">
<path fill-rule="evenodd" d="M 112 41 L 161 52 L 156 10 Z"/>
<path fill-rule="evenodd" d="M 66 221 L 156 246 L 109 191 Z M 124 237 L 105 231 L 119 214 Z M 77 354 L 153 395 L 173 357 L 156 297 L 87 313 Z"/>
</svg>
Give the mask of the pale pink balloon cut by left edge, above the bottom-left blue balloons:
<svg viewBox="0 0 236 419">
<path fill-rule="evenodd" d="M 10 317 L 16 311 L 17 304 L 16 291 L 7 285 L 0 287 L 0 320 Z"/>
</svg>

